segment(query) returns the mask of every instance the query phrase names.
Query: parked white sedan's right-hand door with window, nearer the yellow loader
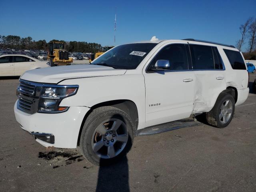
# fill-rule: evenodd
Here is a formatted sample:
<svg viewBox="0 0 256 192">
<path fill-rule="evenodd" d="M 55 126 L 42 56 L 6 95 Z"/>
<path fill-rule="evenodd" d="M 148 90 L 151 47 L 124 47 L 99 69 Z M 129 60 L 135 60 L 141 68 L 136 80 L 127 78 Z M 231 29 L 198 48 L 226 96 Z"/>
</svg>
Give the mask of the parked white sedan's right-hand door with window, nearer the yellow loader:
<svg viewBox="0 0 256 192">
<path fill-rule="evenodd" d="M 35 61 L 26 56 L 14 56 L 14 73 L 17 76 L 33 68 Z"/>
</svg>

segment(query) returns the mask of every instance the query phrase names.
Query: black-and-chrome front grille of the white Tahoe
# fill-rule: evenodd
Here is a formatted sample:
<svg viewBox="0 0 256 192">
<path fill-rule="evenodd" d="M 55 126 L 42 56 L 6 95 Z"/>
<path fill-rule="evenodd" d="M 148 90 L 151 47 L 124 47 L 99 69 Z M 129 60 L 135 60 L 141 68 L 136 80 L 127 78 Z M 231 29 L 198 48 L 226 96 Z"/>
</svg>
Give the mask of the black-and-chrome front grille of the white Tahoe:
<svg viewBox="0 0 256 192">
<path fill-rule="evenodd" d="M 17 108 L 30 114 L 36 113 L 41 88 L 42 84 L 21 79 L 17 88 Z"/>
</svg>

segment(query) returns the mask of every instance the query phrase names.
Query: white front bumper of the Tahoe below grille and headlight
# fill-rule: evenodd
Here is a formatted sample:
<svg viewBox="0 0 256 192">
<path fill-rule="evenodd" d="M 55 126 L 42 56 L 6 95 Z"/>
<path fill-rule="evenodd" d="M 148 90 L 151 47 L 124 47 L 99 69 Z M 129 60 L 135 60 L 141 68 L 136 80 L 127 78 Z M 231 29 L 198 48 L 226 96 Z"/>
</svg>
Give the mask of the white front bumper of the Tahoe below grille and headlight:
<svg viewBox="0 0 256 192">
<path fill-rule="evenodd" d="M 14 105 L 14 114 L 21 128 L 34 135 L 36 141 L 43 146 L 56 148 L 76 148 L 82 121 L 89 110 L 84 106 L 71 106 L 63 113 L 28 114 L 18 110 L 17 101 Z M 54 136 L 52 144 L 52 138 L 49 137 L 51 135 Z M 47 138 L 50 140 L 46 140 Z"/>
</svg>

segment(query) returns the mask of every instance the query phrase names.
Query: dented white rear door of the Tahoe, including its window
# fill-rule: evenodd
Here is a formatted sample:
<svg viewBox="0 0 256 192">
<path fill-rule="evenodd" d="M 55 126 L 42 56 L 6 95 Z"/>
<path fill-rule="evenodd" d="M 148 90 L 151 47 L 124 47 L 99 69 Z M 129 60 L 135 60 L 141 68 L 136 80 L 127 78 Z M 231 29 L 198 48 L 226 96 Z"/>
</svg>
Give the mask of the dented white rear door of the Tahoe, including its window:
<svg viewBox="0 0 256 192">
<path fill-rule="evenodd" d="M 218 48 L 189 44 L 195 74 L 193 113 L 210 111 L 220 92 L 226 89 L 225 68 Z"/>
</svg>

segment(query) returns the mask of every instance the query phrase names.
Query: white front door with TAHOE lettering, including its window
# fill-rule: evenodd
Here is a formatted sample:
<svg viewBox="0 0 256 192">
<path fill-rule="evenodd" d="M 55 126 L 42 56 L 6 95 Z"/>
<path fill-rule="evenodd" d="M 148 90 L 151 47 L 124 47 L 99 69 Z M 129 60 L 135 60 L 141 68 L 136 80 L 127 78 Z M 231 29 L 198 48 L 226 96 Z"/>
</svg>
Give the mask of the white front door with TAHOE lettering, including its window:
<svg viewBox="0 0 256 192">
<path fill-rule="evenodd" d="M 162 48 L 143 72 L 146 87 L 146 126 L 187 118 L 193 110 L 195 75 L 188 44 Z M 170 70 L 154 72 L 157 60 L 169 60 Z"/>
</svg>

